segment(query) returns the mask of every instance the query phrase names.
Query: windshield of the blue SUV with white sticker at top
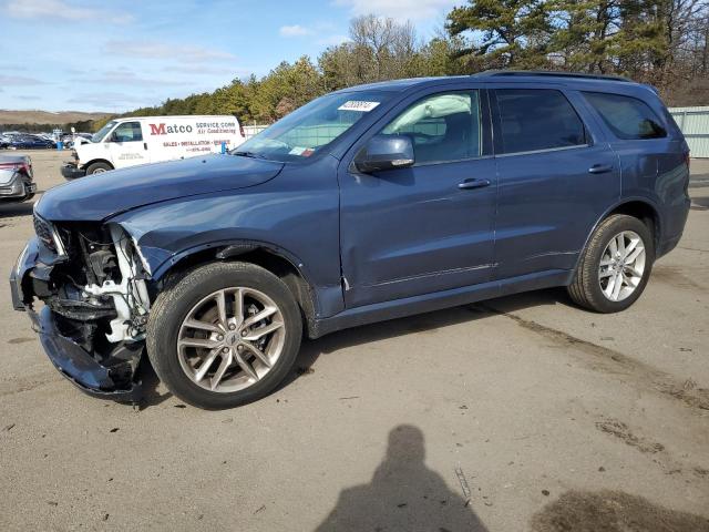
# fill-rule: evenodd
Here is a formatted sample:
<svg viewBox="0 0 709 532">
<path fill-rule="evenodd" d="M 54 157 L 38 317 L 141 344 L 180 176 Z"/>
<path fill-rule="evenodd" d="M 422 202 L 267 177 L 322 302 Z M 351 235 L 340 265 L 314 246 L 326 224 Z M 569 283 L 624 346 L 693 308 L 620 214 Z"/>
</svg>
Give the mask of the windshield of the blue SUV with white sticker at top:
<svg viewBox="0 0 709 532">
<path fill-rule="evenodd" d="M 249 139 L 233 155 L 302 161 L 330 144 L 389 99 L 386 92 L 358 91 L 318 98 Z"/>
</svg>

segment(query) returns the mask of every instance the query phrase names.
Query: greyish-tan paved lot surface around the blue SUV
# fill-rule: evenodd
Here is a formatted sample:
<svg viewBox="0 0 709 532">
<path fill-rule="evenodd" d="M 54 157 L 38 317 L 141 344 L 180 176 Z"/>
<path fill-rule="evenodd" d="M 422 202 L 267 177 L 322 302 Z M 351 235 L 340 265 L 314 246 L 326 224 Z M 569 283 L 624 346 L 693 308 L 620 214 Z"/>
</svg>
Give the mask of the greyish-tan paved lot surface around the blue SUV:
<svg viewBox="0 0 709 532">
<path fill-rule="evenodd" d="M 32 154 L 40 190 L 69 154 Z M 206 412 L 86 397 L 0 290 L 0 530 L 709 531 L 709 187 L 619 315 L 563 290 L 346 330 Z M 0 206 L 0 270 L 32 234 Z"/>
</svg>

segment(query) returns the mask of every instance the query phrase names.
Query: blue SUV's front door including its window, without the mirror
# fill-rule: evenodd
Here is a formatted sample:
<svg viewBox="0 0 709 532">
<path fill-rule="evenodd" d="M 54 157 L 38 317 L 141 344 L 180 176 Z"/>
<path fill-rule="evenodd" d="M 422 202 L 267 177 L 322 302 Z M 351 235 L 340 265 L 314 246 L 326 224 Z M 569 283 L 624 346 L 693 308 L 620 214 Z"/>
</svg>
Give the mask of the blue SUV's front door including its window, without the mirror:
<svg viewBox="0 0 709 532">
<path fill-rule="evenodd" d="M 348 307 L 491 279 L 496 175 L 486 156 L 481 94 L 428 94 L 373 127 L 369 137 L 411 137 L 411 167 L 362 174 L 343 161 L 340 247 Z"/>
</svg>

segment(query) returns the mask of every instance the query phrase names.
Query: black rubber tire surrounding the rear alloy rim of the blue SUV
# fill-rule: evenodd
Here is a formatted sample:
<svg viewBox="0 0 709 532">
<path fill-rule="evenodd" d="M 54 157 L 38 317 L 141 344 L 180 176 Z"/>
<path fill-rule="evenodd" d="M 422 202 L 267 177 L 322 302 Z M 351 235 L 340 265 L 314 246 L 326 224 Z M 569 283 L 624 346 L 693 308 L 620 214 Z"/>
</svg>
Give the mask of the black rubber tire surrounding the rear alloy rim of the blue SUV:
<svg viewBox="0 0 709 532">
<path fill-rule="evenodd" d="M 640 236 L 645 246 L 645 270 L 635 291 L 623 300 L 613 301 L 603 293 L 598 282 L 598 268 L 606 246 L 613 237 L 624 231 Z M 568 295 L 577 305 L 596 313 L 618 313 L 633 305 L 645 290 L 655 262 L 655 238 L 650 228 L 640 219 L 625 214 L 614 214 L 604 219 L 590 236 L 576 266 L 574 279 L 567 287 Z"/>
</svg>

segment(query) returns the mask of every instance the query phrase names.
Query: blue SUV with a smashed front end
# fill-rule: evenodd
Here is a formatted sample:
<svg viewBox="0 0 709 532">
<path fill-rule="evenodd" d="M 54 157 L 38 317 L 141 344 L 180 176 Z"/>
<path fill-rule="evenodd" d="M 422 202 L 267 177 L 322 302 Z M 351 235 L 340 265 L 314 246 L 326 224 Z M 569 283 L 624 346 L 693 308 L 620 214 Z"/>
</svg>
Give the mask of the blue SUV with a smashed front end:
<svg viewBox="0 0 709 532">
<path fill-rule="evenodd" d="M 12 299 L 90 393 L 134 400 L 146 351 L 184 401 L 235 407 L 302 335 L 553 286 L 625 310 L 681 237 L 688 155 L 657 93 L 619 78 L 354 86 L 230 155 L 48 191 Z"/>
</svg>

